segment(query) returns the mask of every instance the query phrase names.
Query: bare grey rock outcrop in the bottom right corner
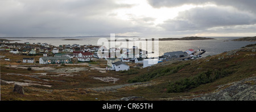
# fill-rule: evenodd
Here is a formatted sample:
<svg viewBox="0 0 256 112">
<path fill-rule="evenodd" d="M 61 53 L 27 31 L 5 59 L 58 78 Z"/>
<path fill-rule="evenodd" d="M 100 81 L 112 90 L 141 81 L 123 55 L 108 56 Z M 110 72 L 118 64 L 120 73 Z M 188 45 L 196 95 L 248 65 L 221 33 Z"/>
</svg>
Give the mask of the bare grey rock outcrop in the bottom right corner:
<svg viewBox="0 0 256 112">
<path fill-rule="evenodd" d="M 256 77 L 246 78 L 218 86 L 218 89 L 210 94 L 193 98 L 194 101 L 256 101 Z"/>
</svg>

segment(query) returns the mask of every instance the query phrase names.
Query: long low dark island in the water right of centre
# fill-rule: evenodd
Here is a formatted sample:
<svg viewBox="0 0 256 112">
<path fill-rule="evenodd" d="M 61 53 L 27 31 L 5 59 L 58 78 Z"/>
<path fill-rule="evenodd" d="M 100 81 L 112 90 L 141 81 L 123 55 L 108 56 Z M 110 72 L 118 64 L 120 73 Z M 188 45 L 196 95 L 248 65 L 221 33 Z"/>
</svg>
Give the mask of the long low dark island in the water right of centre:
<svg viewBox="0 0 256 112">
<path fill-rule="evenodd" d="M 211 40 L 213 38 L 202 38 L 197 36 L 188 36 L 184 38 L 160 38 L 159 41 L 166 41 L 166 40 Z"/>
</svg>

